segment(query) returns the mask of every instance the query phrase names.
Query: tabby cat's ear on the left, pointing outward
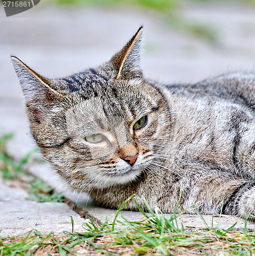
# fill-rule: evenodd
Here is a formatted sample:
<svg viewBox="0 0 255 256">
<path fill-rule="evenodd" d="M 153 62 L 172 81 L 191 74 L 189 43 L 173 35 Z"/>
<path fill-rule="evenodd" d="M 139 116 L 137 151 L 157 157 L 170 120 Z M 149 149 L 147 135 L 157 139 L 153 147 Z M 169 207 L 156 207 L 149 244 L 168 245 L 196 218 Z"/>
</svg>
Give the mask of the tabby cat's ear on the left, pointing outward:
<svg viewBox="0 0 255 256">
<path fill-rule="evenodd" d="M 62 95 L 53 89 L 50 79 L 40 76 L 20 59 L 14 56 L 11 59 L 26 98 L 27 110 L 40 121 L 47 115 L 49 106 Z"/>
</svg>

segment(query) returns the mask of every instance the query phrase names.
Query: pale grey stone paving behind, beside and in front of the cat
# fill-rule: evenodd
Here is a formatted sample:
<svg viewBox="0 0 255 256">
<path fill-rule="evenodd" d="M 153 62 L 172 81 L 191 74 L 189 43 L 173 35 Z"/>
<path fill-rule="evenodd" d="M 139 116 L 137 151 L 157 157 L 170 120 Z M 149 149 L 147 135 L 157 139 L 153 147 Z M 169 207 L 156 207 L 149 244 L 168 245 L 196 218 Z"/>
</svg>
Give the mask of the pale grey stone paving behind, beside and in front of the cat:
<svg viewBox="0 0 255 256">
<path fill-rule="evenodd" d="M 35 143 L 29 133 L 10 54 L 41 75 L 50 78 L 69 75 L 108 60 L 143 24 L 142 68 L 146 77 L 164 83 L 195 82 L 228 71 L 255 70 L 255 9 L 250 6 L 217 2 L 180 7 L 177 16 L 182 21 L 203 25 L 215 32 L 216 40 L 208 41 L 176 29 L 178 26 L 171 27 L 168 18 L 153 11 L 56 8 L 41 2 L 8 18 L 0 6 L 0 133 L 14 132 L 8 151 L 16 159 L 33 150 Z M 99 220 L 114 214 L 114 210 L 91 206 L 87 195 L 69 191 L 47 165 L 33 163 L 29 169 L 66 197 L 87 206 L 90 214 Z M 75 230 L 84 222 L 65 204 L 30 202 L 26 197 L 26 191 L 0 184 L 1 236 L 24 234 L 32 228 L 42 233 L 70 231 L 69 215 L 74 217 Z M 121 215 L 130 220 L 142 217 L 139 212 L 129 211 L 122 211 Z M 212 223 L 211 216 L 204 218 Z M 214 221 L 217 222 L 217 218 Z M 244 222 L 237 217 L 223 216 L 220 226 L 227 228 L 236 221 L 235 228 L 242 229 Z M 199 216 L 183 215 L 180 222 L 187 228 L 204 228 Z M 248 229 L 255 230 L 254 224 L 248 223 Z"/>
</svg>

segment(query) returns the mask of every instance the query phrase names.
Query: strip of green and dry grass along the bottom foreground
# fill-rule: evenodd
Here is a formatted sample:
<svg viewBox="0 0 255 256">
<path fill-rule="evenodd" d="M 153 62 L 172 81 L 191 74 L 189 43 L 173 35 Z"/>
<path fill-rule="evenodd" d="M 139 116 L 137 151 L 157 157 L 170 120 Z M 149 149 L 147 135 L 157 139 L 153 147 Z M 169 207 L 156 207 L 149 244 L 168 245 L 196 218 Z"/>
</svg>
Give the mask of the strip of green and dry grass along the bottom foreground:
<svg viewBox="0 0 255 256">
<path fill-rule="evenodd" d="M 98 255 L 122 255 L 125 252 L 129 252 L 128 255 L 174 255 L 177 252 L 188 255 L 218 255 L 220 252 L 224 255 L 254 254 L 254 233 L 224 231 L 219 226 L 208 228 L 208 224 L 207 231 L 187 231 L 177 226 L 178 215 L 166 218 L 159 210 L 153 212 L 148 204 L 147 208 L 150 215 L 142 211 L 144 218 L 141 221 L 130 221 L 124 217 L 119 221 L 118 210 L 113 223 L 106 219 L 97 226 L 91 220 L 91 224 L 84 224 L 83 232 L 66 232 L 62 238 L 53 234 L 41 236 L 38 230 L 34 230 L 34 237 L 2 238 L 0 255 L 86 255 L 88 251 Z"/>
</svg>

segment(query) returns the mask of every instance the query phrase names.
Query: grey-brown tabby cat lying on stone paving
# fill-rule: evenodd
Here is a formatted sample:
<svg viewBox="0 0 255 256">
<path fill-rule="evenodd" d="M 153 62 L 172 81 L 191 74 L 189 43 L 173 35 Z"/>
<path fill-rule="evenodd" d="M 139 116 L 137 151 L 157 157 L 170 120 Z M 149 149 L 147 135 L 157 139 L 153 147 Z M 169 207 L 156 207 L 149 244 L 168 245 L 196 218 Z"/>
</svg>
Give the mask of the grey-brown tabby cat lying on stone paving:
<svg viewBox="0 0 255 256">
<path fill-rule="evenodd" d="M 12 56 L 31 133 L 69 187 L 118 208 L 255 214 L 255 74 L 143 77 L 143 27 L 108 62 L 48 79 Z M 184 73 L 184 71 L 183 71 Z M 223 205 L 223 206 L 222 206 Z M 138 210 L 134 200 L 124 209 Z"/>
</svg>

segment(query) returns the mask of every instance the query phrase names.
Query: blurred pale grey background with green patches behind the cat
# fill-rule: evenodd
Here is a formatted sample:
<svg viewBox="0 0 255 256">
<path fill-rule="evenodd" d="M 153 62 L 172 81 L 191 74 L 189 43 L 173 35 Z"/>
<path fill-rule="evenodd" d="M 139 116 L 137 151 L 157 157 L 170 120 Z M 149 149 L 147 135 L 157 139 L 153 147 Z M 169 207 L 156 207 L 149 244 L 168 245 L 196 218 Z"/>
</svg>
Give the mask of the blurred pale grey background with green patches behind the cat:
<svg viewBox="0 0 255 256">
<path fill-rule="evenodd" d="M 197 82 L 255 71 L 254 0 L 41 0 L 10 17 L 1 3 L 0 134 L 14 133 L 14 158 L 34 144 L 10 55 L 49 78 L 71 75 L 109 60 L 141 25 L 147 78 Z"/>
</svg>

